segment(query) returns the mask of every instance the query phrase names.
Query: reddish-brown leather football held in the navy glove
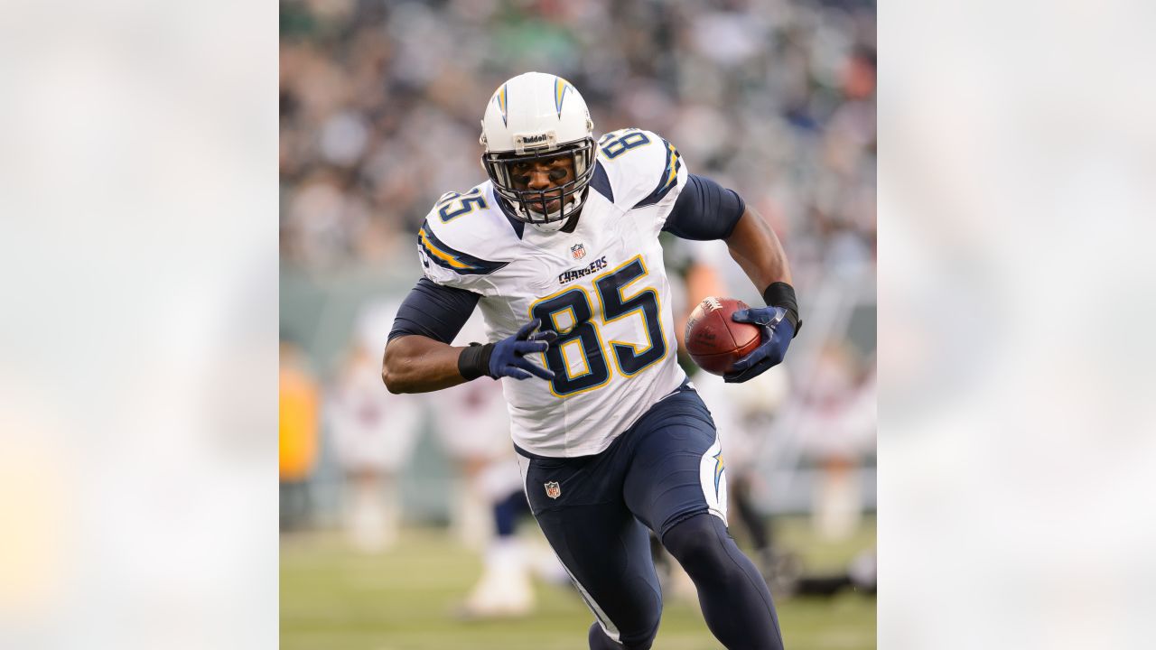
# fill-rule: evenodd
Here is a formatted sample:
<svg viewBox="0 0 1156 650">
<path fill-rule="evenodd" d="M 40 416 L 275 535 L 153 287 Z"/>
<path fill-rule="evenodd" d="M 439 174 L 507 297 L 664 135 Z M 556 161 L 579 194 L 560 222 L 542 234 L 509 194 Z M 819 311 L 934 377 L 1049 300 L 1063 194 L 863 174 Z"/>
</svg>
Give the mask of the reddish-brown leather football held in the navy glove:
<svg viewBox="0 0 1156 650">
<path fill-rule="evenodd" d="M 758 347 L 761 331 L 750 323 L 735 323 L 731 315 L 747 309 L 735 298 L 710 296 L 687 319 L 687 352 L 703 370 L 725 375 L 731 365 Z"/>
</svg>

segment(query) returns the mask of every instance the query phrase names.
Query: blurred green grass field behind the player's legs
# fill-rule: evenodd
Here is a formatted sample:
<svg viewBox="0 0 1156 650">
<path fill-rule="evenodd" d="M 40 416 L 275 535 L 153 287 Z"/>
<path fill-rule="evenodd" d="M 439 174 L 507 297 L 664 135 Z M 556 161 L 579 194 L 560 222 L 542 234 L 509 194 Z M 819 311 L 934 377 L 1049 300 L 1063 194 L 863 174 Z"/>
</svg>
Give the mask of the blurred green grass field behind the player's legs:
<svg viewBox="0 0 1156 650">
<path fill-rule="evenodd" d="M 777 524 L 783 546 L 808 568 L 842 567 L 874 546 L 868 522 L 850 540 L 817 544 L 803 520 Z M 332 534 L 291 535 L 281 545 L 281 648 L 287 650 L 584 650 L 592 615 L 568 586 L 538 585 L 538 610 L 517 620 L 460 622 L 452 612 L 480 571 L 480 559 L 437 529 L 405 531 L 388 553 L 360 555 Z M 779 599 L 790 650 L 875 648 L 875 599 Z M 720 648 L 697 604 L 667 597 L 655 650 Z"/>
</svg>

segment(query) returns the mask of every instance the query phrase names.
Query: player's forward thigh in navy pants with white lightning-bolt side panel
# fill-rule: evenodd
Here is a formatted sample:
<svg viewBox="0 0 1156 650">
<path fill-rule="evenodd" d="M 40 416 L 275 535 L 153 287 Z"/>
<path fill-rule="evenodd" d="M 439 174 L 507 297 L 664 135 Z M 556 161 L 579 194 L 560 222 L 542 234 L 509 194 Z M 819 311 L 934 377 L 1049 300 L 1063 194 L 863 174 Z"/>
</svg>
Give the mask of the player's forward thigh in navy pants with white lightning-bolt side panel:
<svg viewBox="0 0 1156 650">
<path fill-rule="evenodd" d="M 655 533 L 698 512 L 726 522 L 722 448 L 710 411 L 697 393 L 677 393 L 654 406 L 635 431 L 624 495 L 630 510 Z"/>
</svg>

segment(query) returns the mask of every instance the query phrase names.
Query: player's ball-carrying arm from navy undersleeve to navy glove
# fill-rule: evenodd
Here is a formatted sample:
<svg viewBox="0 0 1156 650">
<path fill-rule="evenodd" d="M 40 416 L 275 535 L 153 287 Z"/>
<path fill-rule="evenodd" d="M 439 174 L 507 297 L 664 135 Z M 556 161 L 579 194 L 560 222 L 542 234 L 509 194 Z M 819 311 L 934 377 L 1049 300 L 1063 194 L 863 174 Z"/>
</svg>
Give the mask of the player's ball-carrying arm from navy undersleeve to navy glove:
<svg viewBox="0 0 1156 650">
<path fill-rule="evenodd" d="M 722 239 L 731 257 L 762 293 L 768 306 L 734 312 L 732 318 L 763 328 L 762 344 L 735 362 L 724 376 L 746 382 L 786 356 L 801 322 L 791 266 L 783 244 L 766 221 L 733 190 L 691 175 L 666 220 L 664 229 L 688 239 Z"/>
</svg>

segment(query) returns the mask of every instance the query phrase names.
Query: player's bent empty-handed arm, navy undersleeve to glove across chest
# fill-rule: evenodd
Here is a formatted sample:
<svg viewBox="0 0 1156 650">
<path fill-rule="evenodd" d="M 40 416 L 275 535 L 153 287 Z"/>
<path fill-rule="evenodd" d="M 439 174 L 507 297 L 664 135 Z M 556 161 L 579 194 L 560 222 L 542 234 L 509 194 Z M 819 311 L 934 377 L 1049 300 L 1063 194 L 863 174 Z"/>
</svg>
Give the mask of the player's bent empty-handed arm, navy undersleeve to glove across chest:
<svg viewBox="0 0 1156 650">
<path fill-rule="evenodd" d="M 455 386 L 483 375 L 497 379 L 531 376 L 551 379 L 525 355 L 544 352 L 557 337 L 535 332 L 532 320 L 495 344 L 451 346 L 481 296 L 455 287 L 418 280 L 398 310 L 381 360 L 381 381 L 391 393 L 421 393 Z"/>
</svg>

